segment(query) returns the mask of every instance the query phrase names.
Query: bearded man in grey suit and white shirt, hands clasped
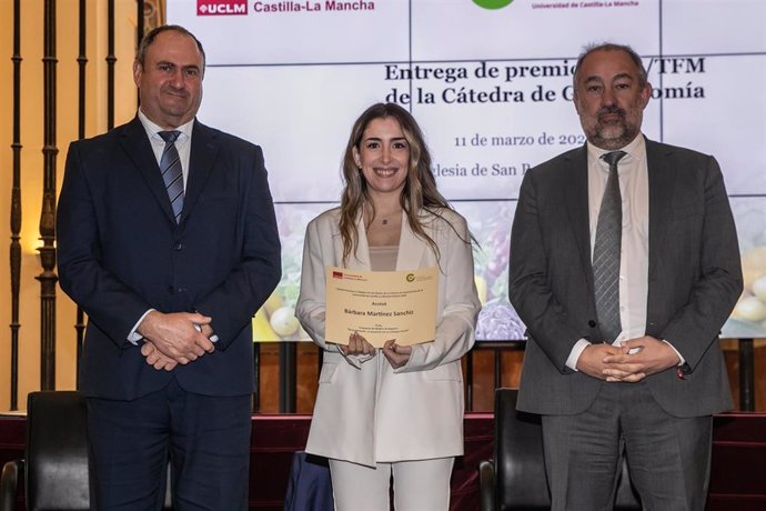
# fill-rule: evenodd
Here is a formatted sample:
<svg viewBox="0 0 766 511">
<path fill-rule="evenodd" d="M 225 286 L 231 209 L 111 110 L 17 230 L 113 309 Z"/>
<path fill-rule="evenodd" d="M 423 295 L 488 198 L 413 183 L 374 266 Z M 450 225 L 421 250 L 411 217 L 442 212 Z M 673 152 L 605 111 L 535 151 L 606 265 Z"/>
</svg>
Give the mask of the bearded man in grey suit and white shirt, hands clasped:
<svg viewBox="0 0 766 511">
<path fill-rule="evenodd" d="M 543 415 L 554 510 L 612 509 L 623 455 L 644 509 L 704 509 L 712 414 L 732 407 L 718 333 L 743 282 L 723 177 L 641 133 L 651 96 L 629 47 L 587 48 L 574 76 L 587 143 L 520 191 L 518 409 Z"/>
</svg>

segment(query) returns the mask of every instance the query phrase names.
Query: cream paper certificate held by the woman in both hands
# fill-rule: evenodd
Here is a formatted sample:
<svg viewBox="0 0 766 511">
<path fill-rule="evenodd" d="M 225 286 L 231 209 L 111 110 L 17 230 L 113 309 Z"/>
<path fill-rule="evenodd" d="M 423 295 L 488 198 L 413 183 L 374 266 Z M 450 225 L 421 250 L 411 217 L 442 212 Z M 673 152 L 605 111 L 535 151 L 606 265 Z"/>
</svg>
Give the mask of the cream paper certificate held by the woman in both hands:
<svg viewBox="0 0 766 511">
<path fill-rule="evenodd" d="M 325 332 L 347 344 L 357 332 L 375 348 L 395 339 L 410 345 L 433 341 L 436 332 L 439 271 L 364 271 L 327 267 Z"/>
</svg>

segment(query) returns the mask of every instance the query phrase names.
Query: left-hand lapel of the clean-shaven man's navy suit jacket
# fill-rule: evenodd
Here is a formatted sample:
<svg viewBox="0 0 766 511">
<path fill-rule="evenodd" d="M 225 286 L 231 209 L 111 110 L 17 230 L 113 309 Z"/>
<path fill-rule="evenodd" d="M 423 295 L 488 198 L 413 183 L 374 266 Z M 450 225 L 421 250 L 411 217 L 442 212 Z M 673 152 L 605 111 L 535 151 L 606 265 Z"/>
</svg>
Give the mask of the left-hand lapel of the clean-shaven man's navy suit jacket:
<svg viewBox="0 0 766 511">
<path fill-rule="evenodd" d="M 175 216 L 173 214 L 173 209 L 168 198 L 168 191 L 165 190 L 165 184 L 160 174 L 160 167 L 154 158 L 154 151 L 149 142 L 147 130 L 143 128 L 138 117 L 133 118 L 132 121 L 124 126 L 120 134 L 120 144 L 125 151 L 125 154 L 128 154 L 128 158 L 130 158 L 135 166 L 138 172 L 141 173 L 144 181 L 147 181 L 149 189 L 162 208 L 162 211 L 164 211 L 168 220 L 175 223 Z"/>
</svg>

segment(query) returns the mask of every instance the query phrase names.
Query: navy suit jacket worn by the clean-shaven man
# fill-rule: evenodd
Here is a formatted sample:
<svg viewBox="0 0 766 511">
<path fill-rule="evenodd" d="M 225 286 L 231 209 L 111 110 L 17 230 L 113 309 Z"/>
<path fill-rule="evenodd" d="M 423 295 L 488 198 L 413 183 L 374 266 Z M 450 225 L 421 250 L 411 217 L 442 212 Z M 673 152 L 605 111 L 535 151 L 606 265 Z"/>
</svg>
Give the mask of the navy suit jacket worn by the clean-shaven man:
<svg viewBox="0 0 766 511">
<path fill-rule="evenodd" d="M 131 400 L 173 375 L 206 395 L 253 391 L 251 318 L 281 277 L 260 147 L 195 121 L 177 224 L 138 117 L 73 142 L 57 234 L 61 288 L 88 314 L 85 395 Z M 210 315 L 215 351 L 172 372 L 148 365 L 127 338 L 150 308 Z"/>
</svg>

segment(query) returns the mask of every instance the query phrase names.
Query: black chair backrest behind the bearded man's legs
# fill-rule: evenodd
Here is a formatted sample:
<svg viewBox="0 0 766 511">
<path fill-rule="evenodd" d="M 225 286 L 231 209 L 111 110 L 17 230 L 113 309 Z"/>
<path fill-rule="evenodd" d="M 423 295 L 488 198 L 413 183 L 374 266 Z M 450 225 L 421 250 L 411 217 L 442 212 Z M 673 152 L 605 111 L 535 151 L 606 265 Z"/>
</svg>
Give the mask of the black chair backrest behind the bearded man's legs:
<svg viewBox="0 0 766 511">
<path fill-rule="evenodd" d="M 495 391 L 495 501 L 498 510 L 550 510 L 540 415 L 516 411 L 517 394 Z M 625 463 L 615 510 L 641 510 Z"/>
</svg>

